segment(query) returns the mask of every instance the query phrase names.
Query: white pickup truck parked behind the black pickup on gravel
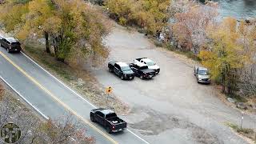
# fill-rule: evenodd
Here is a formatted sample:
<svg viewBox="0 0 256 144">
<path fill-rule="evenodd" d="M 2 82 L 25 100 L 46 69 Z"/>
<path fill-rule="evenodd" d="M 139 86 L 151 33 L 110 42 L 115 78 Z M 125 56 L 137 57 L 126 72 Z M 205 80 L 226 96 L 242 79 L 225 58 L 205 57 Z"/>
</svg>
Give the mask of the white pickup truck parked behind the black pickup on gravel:
<svg viewBox="0 0 256 144">
<path fill-rule="evenodd" d="M 155 71 L 155 74 L 159 74 L 160 72 L 160 67 L 149 58 L 136 58 L 134 59 L 134 64 L 138 64 L 138 65 L 146 64 L 146 66 L 148 66 L 149 69 Z"/>
</svg>

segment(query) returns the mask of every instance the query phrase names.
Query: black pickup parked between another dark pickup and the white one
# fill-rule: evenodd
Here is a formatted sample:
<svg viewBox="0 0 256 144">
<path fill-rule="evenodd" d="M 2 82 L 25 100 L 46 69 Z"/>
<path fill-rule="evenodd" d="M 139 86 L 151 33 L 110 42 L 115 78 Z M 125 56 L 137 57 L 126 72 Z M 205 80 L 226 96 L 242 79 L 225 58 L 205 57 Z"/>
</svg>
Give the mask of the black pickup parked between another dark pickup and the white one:
<svg viewBox="0 0 256 144">
<path fill-rule="evenodd" d="M 135 76 L 141 79 L 153 78 L 156 74 L 154 70 L 149 69 L 149 67 L 144 64 L 131 63 L 130 68 L 134 71 Z"/>
</svg>

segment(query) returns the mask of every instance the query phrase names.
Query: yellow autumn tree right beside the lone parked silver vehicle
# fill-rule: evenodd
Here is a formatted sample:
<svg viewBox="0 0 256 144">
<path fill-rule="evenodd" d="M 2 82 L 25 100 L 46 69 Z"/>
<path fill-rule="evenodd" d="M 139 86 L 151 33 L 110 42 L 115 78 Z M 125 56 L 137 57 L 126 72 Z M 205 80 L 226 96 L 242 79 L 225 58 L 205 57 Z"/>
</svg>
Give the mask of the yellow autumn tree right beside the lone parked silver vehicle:
<svg viewBox="0 0 256 144">
<path fill-rule="evenodd" d="M 202 64 L 211 70 L 213 78 L 222 78 L 222 90 L 233 94 L 238 87 L 238 71 L 248 62 L 244 53 L 238 30 L 238 22 L 234 18 L 226 18 L 219 26 L 208 29 L 211 39 L 208 50 L 198 54 Z"/>
</svg>

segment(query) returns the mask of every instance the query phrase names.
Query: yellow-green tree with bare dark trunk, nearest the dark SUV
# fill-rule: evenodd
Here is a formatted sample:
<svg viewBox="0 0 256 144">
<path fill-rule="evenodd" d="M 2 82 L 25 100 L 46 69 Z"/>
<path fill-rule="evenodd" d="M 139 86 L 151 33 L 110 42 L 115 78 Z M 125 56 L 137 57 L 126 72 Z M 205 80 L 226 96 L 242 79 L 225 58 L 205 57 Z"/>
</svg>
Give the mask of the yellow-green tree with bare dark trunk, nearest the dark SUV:
<svg viewBox="0 0 256 144">
<path fill-rule="evenodd" d="M 50 53 L 50 36 L 58 33 L 61 20 L 56 16 L 54 3 L 48 0 L 34 0 L 28 3 L 28 13 L 25 14 L 22 29 L 19 30 L 18 38 L 24 40 L 30 35 L 37 34 L 46 40 L 46 52 Z"/>
</svg>

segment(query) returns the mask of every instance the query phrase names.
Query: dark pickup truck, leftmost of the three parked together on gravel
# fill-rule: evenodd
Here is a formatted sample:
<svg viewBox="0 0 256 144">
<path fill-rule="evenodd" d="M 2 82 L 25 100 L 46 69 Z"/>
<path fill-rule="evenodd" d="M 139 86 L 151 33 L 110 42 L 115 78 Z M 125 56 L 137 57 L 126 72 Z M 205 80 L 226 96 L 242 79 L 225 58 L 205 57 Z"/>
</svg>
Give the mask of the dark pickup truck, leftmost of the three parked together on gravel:
<svg viewBox="0 0 256 144">
<path fill-rule="evenodd" d="M 111 73 L 123 79 L 134 79 L 134 71 L 125 62 L 109 62 L 108 67 Z"/>
</svg>

